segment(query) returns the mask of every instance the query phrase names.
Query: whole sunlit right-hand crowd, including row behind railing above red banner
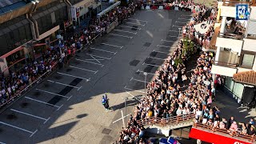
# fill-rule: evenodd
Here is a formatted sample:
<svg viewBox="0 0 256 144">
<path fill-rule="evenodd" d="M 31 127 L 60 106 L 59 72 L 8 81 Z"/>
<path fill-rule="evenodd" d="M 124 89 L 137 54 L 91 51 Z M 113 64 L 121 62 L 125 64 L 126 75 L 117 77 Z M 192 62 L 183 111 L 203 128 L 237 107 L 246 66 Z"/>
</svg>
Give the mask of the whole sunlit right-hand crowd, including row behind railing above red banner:
<svg viewBox="0 0 256 144">
<path fill-rule="evenodd" d="M 177 3 L 175 3 L 177 4 Z M 191 19 L 190 23 L 183 27 L 183 38 L 189 35 L 190 40 L 198 43 L 198 46 L 207 46 L 214 34 L 214 20 L 216 19 L 216 8 L 206 16 L 205 6 L 195 6 L 197 14 Z M 194 10 L 192 10 L 194 11 Z M 194 25 L 206 22 L 210 25 L 205 34 L 200 34 L 194 29 Z M 193 70 L 186 90 L 182 90 L 181 85 L 187 81 L 186 77 L 186 54 L 183 55 L 182 48 L 184 42 L 180 41 L 178 48 L 174 50 L 160 70 L 156 71 L 153 82 L 147 86 L 146 98 L 142 98 L 138 106 L 134 107 L 134 116 L 130 117 L 126 129 L 120 132 L 119 142 L 133 143 L 142 142 L 144 134 L 143 126 L 138 125 L 138 120 L 148 118 L 171 118 L 194 114 L 194 122 L 202 122 L 212 129 L 219 128 L 226 130 L 230 134 L 255 135 L 254 119 L 248 123 L 238 123 L 231 117 L 221 120 L 221 111 L 217 106 L 211 106 L 216 98 L 215 88 L 222 82 L 221 78 L 213 80 L 210 74 L 214 54 L 203 52 L 197 60 L 197 66 Z M 182 58 L 182 63 L 175 64 L 176 58 Z"/>
</svg>

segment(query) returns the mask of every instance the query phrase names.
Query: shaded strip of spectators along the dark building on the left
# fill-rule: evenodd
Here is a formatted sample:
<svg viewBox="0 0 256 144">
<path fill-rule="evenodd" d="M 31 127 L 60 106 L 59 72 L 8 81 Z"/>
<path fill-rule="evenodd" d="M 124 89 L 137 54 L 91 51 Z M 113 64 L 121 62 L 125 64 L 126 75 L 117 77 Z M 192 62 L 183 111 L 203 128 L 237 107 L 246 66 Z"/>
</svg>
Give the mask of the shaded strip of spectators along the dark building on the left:
<svg viewBox="0 0 256 144">
<path fill-rule="evenodd" d="M 26 86 L 37 82 L 42 74 L 47 75 L 57 63 L 59 66 L 65 65 L 76 51 L 81 50 L 82 46 L 90 44 L 98 35 L 106 34 L 107 26 L 110 26 L 112 22 L 115 20 L 122 22 L 134 13 L 135 6 L 132 3 L 127 7 L 116 7 L 101 18 L 92 18 L 86 28 L 74 29 L 69 33 L 61 34 L 57 44 L 47 46 L 46 50 L 42 52 L 42 57 L 26 63 L 21 70 L 10 71 L 8 76 L 2 74 L 0 78 L 0 107 L 12 102 Z"/>
</svg>

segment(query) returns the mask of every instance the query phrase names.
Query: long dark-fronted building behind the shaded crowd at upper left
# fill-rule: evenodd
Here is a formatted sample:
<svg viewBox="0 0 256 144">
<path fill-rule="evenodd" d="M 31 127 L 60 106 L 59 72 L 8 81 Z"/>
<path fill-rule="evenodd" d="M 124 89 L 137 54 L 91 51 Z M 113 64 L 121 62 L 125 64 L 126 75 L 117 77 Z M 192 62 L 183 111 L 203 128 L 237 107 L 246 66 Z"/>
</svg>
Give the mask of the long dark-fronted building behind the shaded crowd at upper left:
<svg viewBox="0 0 256 144">
<path fill-rule="evenodd" d="M 19 70 L 26 62 L 40 58 L 46 44 L 57 40 L 60 30 L 66 30 L 77 19 L 97 14 L 100 5 L 94 0 L 0 1 L 1 72 L 9 74 L 10 70 Z"/>
</svg>

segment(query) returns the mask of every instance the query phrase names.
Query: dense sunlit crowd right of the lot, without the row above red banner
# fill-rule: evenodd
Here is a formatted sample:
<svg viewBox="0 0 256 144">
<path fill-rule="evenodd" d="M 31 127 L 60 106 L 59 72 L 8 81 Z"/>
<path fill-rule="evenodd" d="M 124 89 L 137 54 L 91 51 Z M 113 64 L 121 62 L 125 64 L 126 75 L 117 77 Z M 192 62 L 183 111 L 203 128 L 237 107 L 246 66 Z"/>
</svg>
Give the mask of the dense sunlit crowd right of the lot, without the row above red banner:
<svg viewBox="0 0 256 144">
<path fill-rule="evenodd" d="M 198 13 L 193 17 L 193 21 L 183 27 L 183 34 L 184 36 L 193 36 L 194 34 L 195 39 L 198 40 L 194 42 L 202 46 L 202 39 L 196 37 L 194 25 L 206 20 L 206 8 L 205 6 L 196 7 L 198 7 Z M 189 86 L 182 91 L 181 85 L 188 81 L 185 62 L 189 54 L 184 53 L 185 39 L 179 41 L 177 49 L 156 71 L 154 81 L 147 86 L 146 98 L 142 98 L 138 106 L 134 107 L 134 116 L 131 116 L 126 129 L 122 129 L 122 132 L 120 132 L 119 142 L 133 143 L 134 138 L 142 138 L 144 129 L 138 125 L 138 120 L 197 114 L 198 110 L 206 106 L 209 107 L 214 101 L 214 82 L 210 74 L 214 55 L 210 52 L 202 53 L 198 58 L 198 65 L 189 78 Z M 196 45 L 193 49 L 194 51 L 198 50 Z M 182 62 L 176 63 L 175 60 L 178 58 Z M 139 134 L 139 132 L 142 133 Z"/>
</svg>

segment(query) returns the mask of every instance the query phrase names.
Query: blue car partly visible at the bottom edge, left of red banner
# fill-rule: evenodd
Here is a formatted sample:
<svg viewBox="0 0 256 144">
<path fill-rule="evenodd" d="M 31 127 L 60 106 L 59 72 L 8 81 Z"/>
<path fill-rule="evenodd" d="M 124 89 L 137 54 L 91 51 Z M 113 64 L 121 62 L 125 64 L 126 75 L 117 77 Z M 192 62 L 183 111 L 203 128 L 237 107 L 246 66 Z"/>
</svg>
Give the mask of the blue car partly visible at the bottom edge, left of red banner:
<svg viewBox="0 0 256 144">
<path fill-rule="evenodd" d="M 147 144 L 181 144 L 174 138 L 148 138 Z"/>
</svg>

